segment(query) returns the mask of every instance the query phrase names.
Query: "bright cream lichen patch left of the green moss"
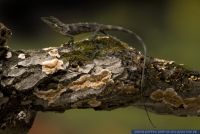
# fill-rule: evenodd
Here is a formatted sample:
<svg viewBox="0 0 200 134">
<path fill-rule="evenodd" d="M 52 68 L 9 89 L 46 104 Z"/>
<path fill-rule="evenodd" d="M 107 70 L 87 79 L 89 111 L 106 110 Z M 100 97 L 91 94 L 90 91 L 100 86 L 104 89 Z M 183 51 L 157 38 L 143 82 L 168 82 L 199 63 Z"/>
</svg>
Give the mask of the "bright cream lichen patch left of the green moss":
<svg viewBox="0 0 200 134">
<path fill-rule="evenodd" d="M 46 74 L 53 74 L 57 72 L 58 70 L 62 70 L 63 68 L 63 61 L 58 60 L 57 58 L 44 61 L 41 63 L 42 65 L 42 72 L 45 72 Z"/>
</svg>

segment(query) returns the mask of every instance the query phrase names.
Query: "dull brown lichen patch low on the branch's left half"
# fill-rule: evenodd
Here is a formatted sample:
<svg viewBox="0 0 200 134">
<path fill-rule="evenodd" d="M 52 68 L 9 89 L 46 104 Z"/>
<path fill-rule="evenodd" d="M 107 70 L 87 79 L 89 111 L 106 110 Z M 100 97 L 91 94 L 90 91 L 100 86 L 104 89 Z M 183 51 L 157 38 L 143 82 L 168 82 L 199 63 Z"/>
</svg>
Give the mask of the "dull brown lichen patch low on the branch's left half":
<svg viewBox="0 0 200 134">
<path fill-rule="evenodd" d="M 59 99 L 60 95 L 66 91 L 66 88 L 61 88 L 58 86 L 57 89 L 49 89 L 47 91 L 40 91 L 36 89 L 34 91 L 34 95 L 38 98 L 48 101 L 48 104 L 54 103 L 57 99 Z"/>
</svg>

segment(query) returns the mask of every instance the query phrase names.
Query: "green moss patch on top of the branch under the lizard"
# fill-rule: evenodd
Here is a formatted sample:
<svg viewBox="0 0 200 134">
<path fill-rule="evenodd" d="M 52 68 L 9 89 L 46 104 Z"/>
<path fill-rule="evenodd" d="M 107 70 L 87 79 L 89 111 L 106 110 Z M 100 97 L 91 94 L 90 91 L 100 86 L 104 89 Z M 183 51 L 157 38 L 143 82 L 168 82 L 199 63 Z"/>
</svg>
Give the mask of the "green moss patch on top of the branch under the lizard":
<svg viewBox="0 0 200 134">
<path fill-rule="evenodd" d="M 98 36 L 94 40 L 75 42 L 71 52 L 61 54 L 65 61 L 91 61 L 114 52 L 127 49 L 128 45 L 110 36 Z"/>
</svg>

